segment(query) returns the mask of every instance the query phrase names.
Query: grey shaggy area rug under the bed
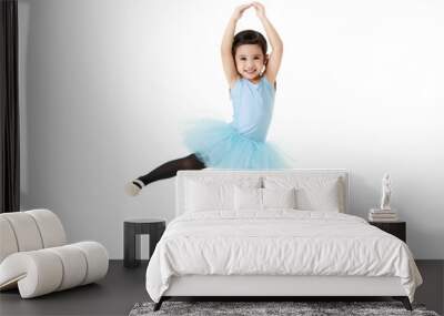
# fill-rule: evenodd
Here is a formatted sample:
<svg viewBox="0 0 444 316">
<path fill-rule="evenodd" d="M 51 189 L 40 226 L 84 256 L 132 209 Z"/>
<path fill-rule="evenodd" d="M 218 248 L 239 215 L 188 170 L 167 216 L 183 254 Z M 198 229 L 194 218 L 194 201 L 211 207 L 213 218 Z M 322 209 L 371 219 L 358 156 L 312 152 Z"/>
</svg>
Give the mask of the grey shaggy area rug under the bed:
<svg viewBox="0 0 444 316">
<path fill-rule="evenodd" d="M 138 303 L 129 316 L 151 315 L 421 315 L 438 316 L 426 310 L 424 305 L 413 304 L 413 312 L 406 310 L 401 302 L 164 302 L 158 312 L 154 303 Z"/>
</svg>

